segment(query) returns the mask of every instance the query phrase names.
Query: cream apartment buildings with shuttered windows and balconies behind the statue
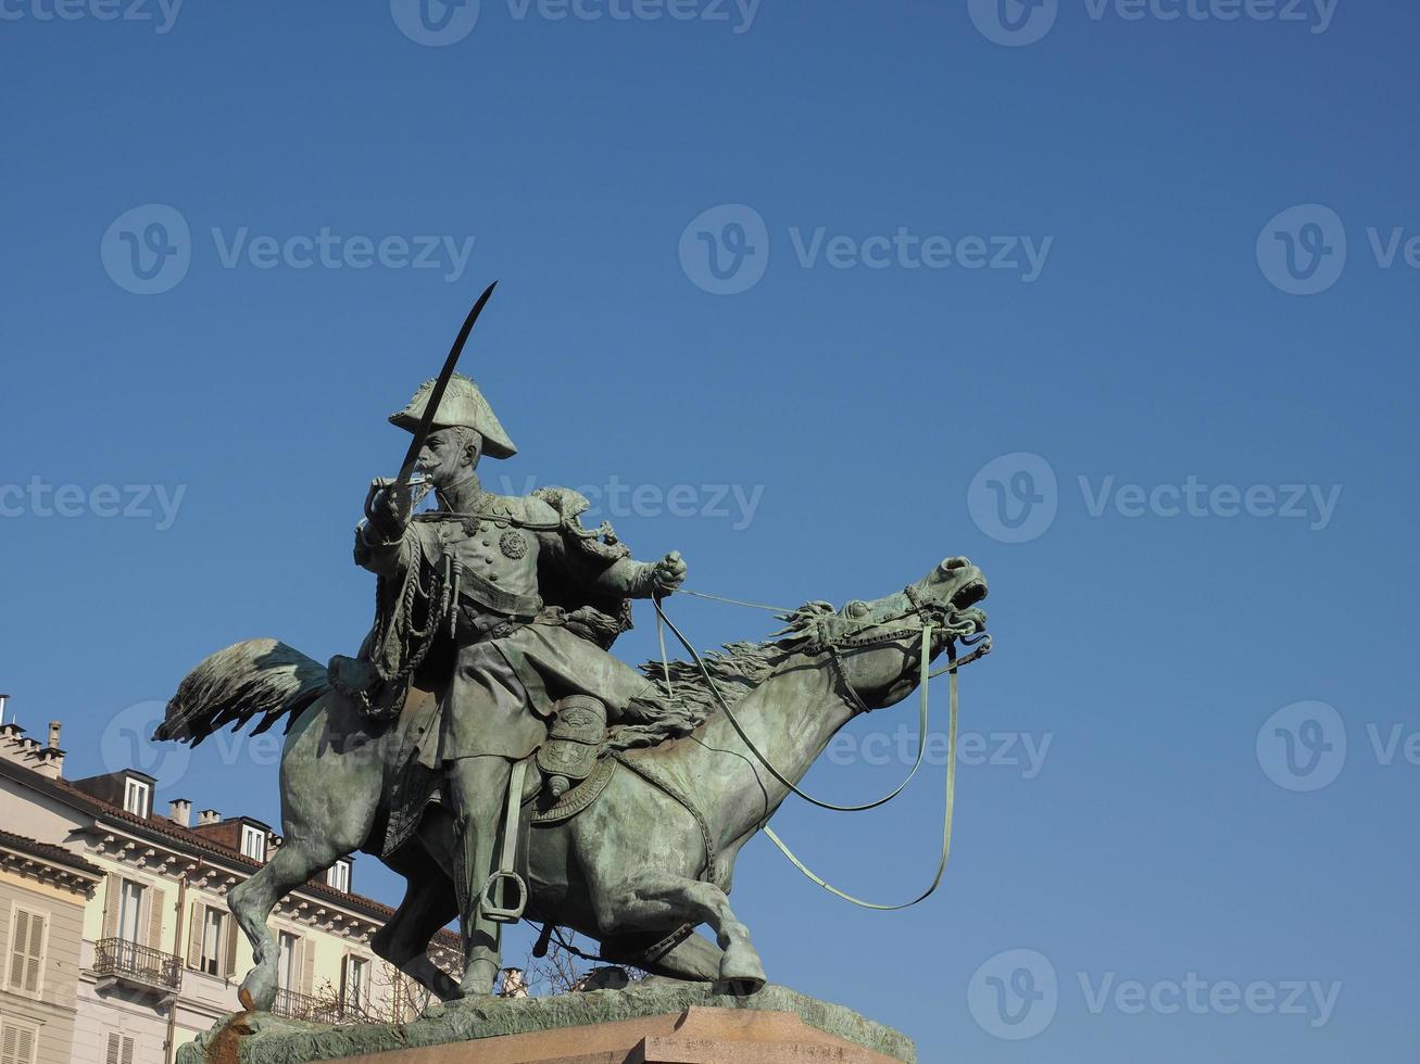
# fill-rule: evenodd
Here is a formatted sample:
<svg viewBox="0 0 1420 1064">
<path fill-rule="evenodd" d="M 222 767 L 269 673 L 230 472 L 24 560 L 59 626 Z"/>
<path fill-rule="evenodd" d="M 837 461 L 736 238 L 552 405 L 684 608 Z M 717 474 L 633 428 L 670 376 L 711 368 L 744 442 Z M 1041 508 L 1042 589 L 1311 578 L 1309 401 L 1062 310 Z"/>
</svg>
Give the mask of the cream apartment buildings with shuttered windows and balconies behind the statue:
<svg viewBox="0 0 1420 1064">
<path fill-rule="evenodd" d="M 0 956 L 6 979 L 11 966 L 23 969 L 23 1016 L 41 1006 L 54 1016 L 53 1027 L 50 1020 L 37 1026 L 16 1012 L 14 1023 L 0 1027 L 17 1031 L 0 1064 L 170 1064 L 176 1046 L 240 1007 L 237 987 L 253 958 L 227 895 L 281 838 L 246 816 L 209 809 L 193 819 L 185 799 L 159 813 L 158 800 L 156 780 L 135 769 L 67 780 L 58 724 L 50 725 L 45 743 L 13 722 L 0 725 L 0 826 L 18 847 L 47 847 L 48 863 L 62 868 L 53 875 L 65 880 L 44 891 L 37 881 L 0 880 L 0 888 L 24 888 L 53 902 L 40 915 L 38 938 L 34 924 L 21 922 L 16 932 L 16 918 L 7 916 Z M 403 1020 L 423 1006 L 422 992 L 372 953 L 371 938 L 392 909 L 352 892 L 352 871 L 351 860 L 341 861 L 273 914 L 277 1013 L 324 1023 Z M 10 908 L 30 919 L 41 909 L 23 898 Z M 456 970 L 457 936 L 440 932 L 433 949 L 436 960 Z M 24 997 L 36 959 L 48 997 Z M 6 1002 L 0 997 L 0 1024 L 10 1023 Z"/>
</svg>

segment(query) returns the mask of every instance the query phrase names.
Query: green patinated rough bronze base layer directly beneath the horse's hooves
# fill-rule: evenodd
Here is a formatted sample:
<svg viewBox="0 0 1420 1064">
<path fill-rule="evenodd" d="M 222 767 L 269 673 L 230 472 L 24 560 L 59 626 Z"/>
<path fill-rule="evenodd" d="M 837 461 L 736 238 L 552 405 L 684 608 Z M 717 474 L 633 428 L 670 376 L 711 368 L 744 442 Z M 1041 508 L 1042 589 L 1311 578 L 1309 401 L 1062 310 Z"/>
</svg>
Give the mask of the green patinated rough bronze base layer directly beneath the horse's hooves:
<svg viewBox="0 0 1420 1064">
<path fill-rule="evenodd" d="M 765 986 L 755 994 L 733 997 L 707 985 L 632 986 L 625 990 L 595 990 L 557 997 L 479 997 L 432 1007 L 412 1023 L 372 1023 L 354 1027 L 250 1017 L 251 1034 L 237 1044 L 236 1060 L 226 1064 L 308 1064 L 368 1053 L 412 1050 L 456 1041 L 494 1038 L 501 1034 L 582 1027 L 648 1016 L 684 1012 L 692 1006 L 792 1013 L 825 1034 L 851 1041 L 893 1060 L 914 1064 L 912 1040 L 890 1027 L 866 1020 L 851 1009 L 819 1002 L 784 986 Z M 209 1047 L 226 1027 L 217 1024 L 178 1050 L 178 1064 L 207 1064 Z M 226 1054 L 219 1054 L 226 1055 Z"/>
</svg>

